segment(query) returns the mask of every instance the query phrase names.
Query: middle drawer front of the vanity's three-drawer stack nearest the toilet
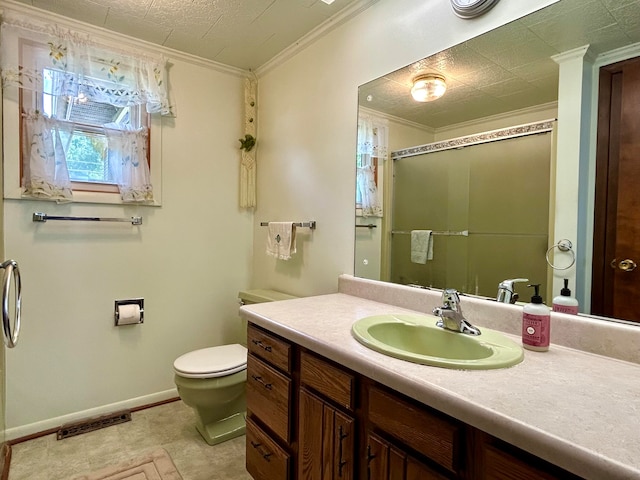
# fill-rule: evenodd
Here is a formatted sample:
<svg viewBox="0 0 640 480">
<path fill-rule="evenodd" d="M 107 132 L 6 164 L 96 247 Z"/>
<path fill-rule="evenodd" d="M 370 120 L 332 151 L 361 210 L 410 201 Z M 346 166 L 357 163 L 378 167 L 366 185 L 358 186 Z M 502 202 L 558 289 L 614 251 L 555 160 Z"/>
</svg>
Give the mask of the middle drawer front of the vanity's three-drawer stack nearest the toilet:
<svg viewBox="0 0 640 480">
<path fill-rule="evenodd" d="M 247 358 L 247 409 L 289 443 L 291 380 L 260 359 Z"/>
</svg>

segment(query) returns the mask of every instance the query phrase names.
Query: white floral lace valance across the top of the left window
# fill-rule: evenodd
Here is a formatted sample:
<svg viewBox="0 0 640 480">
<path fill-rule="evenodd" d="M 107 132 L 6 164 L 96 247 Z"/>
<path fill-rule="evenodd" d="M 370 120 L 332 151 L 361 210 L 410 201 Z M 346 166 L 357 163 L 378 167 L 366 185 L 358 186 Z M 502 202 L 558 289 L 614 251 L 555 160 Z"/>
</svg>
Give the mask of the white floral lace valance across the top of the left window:
<svg viewBox="0 0 640 480">
<path fill-rule="evenodd" d="M 145 105 L 172 114 L 166 60 L 96 44 L 56 25 L 36 27 L 3 19 L 2 86 L 88 99 L 118 107 Z M 47 76 L 47 72 L 55 72 Z"/>
</svg>

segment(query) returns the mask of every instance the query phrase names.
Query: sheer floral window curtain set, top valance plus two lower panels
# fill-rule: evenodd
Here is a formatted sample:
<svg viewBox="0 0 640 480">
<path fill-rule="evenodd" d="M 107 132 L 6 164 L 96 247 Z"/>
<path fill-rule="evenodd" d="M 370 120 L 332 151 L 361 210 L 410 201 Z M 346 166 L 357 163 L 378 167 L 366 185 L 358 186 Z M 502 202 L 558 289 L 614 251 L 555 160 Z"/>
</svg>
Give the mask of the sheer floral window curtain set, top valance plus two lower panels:
<svg viewBox="0 0 640 480">
<path fill-rule="evenodd" d="M 161 57 L 107 48 L 92 42 L 88 35 L 51 25 L 36 27 L 6 17 L 1 25 L 0 42 L 3 89 L 17 87 L 38 95 L 74 98 L 84 95 L 116 107 L 144 106 L 148 113 L 174 115 L 166 89 L 166 61 Z M 45 70 L 55 74 L 47 77 Z M 153 202 L 146 160 L 147 129 L 103 127 L 108 139 L 109 165 L 122 201 Z M 24 196 L 58 202 L 72 200 L 61 129 L 72 131 L 73 124 L 47 118 L 42 112 L 23 114 L 23 145 L 28 146 L 23 162 Z"/>
</svg>

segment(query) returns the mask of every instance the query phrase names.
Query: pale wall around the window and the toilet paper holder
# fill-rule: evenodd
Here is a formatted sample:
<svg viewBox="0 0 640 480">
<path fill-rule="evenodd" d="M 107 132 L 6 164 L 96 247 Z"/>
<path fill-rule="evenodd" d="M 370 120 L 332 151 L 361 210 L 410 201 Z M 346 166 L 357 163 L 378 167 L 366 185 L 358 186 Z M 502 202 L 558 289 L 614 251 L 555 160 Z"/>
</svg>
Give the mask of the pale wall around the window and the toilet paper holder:
<svg viewBox="0 0 640 480">
<path fill-rule="evenodd" d="M 170 61 L 178 116 L 152 131 L 162 135 L 161 207 L 5 200 L 6 256 L 23 275 L 20 343 L 6 354 L 10 438 L 176 396 L 177 356 L 239 339 L 253 229 L 238 208 L 243 80 Z M 36 211 L 144 223 L 33 223 Z M 132 297 L 145 299 L 144 324 L 114 327 L 114 300 Z"/>
</svg>

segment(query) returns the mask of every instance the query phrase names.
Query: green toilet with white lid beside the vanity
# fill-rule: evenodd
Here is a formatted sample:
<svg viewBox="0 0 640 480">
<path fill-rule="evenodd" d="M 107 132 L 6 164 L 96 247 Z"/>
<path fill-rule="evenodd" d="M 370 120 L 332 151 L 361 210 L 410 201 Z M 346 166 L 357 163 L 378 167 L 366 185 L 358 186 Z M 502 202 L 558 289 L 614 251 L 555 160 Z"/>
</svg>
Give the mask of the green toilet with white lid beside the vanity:
<svg viewBox="0 0 640 480">
<path fill-rule="evenodd" d="M 296 298 L 275 290 L 238 294 L 242 305 Z M 242 337 L 246 344 L 246 323 Z M 221 345 L 185 353 L 173 362 L 174 381 L 182 401 L 194 409 L 196 428 L 209 445 L 244 435 L 247 348 Z"/>
</svg>

